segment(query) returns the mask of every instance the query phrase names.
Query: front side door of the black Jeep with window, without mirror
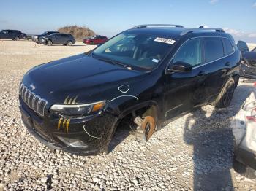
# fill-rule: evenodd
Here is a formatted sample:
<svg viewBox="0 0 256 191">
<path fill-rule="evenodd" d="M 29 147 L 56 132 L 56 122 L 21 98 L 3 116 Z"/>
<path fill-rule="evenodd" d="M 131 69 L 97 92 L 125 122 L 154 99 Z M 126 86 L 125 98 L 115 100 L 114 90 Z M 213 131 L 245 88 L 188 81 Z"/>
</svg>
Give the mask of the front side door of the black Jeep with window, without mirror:
<svg viewBox="0 0 256 191">
<path fill-rule="evenodd" d="M 165 74 L 165 117 L 170 120 L 206 100 L 203 83 L 207 72 L 203 66 L 203 39 L 190 39 L 174 55 L 170 66 L 188 63 L 192 71 L 170 71 Z"/>
</svg>

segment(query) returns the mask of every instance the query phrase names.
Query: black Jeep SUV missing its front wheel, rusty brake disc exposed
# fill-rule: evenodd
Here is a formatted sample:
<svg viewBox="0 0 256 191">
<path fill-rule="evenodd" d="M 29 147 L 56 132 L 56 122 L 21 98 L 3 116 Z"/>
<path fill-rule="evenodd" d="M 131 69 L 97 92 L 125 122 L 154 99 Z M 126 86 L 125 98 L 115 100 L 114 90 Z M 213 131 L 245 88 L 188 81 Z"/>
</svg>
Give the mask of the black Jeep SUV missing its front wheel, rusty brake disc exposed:
<svg viewBox="0 0 256 191">
<path fill-rule="evenodd" d="M 20 84 L 22 120 L 52 149 L 105 152 L 124 120 L 147 140 L 204 104 L 229 106 L 240 61 L 220 28 L 136 26 L 91 52 L 28 71 Z"/>
</svg>

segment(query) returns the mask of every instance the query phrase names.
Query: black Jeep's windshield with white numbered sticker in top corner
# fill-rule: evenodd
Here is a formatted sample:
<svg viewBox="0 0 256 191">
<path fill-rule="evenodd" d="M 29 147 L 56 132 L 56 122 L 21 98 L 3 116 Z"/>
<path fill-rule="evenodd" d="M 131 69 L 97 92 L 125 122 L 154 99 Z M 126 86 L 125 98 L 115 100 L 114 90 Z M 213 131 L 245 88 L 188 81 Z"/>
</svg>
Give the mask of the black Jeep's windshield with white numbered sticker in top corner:
<svg viewBox="0 0 256 191">
<path fill-rule="evenodd" d="M 122 33 L 95 49 L 92 56 L 141 69 L 154 69 L 175 41 L 147 34 Z"/>
</svg>

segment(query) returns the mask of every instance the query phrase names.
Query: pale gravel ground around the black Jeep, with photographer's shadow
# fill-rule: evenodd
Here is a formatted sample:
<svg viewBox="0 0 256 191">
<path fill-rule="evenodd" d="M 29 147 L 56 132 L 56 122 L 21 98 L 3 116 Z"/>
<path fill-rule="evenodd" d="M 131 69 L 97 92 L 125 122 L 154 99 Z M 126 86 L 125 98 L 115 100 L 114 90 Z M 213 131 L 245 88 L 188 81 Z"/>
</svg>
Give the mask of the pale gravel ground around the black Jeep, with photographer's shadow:
<svg viewBox="0 0 256 191">
<path fill-rule="evenodd" d="M 231 106 L 203 106 L 154 133 L 145 144 L 118 128 L 108 155 L 52 152 L 20 122 L 18 85 L 32 66 L 91 46 L 47 47 L 0 41 L 0 190 L 256 190 L 232 168 L 230 117 L 251 92 L 239 82 Z"/>
</svg>

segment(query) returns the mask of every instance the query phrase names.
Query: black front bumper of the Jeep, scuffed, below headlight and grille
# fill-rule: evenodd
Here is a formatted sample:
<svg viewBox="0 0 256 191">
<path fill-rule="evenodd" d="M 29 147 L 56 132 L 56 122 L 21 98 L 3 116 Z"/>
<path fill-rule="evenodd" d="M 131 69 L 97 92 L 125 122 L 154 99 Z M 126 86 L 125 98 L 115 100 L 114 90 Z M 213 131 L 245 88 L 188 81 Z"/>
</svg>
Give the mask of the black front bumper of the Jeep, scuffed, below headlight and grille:
<svg viewBox="0 0 256 191">
<path fill-rule="evenodd" d="M 61 121 L 63 127 L 58 129 L 59 118 L 53 115 L 39 117 L 22 100 L 20 112 L 27 130 L 42 144 L 49 149 L 62 149 L 76 155 L 95 155 L 108 149 L 117 121 L 116 117 L 104 112 L 81 120 L 70 120 L 67 132 L 64 120 Z"/>
</svg>

